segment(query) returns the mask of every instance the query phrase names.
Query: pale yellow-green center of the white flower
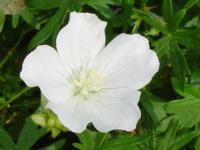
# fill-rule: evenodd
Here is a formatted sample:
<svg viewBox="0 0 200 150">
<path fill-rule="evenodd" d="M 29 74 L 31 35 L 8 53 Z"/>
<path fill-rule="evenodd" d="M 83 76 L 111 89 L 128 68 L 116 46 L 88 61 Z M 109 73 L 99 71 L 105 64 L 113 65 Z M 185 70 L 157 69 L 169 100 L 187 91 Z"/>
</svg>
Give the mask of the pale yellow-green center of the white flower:
<svg viewBox="0 0 200 150">
<path fill-rule="evenodd" d="M 88 99 L 89 96 L 101 90 L 102 76 L 95 70 L 81 71 L 73 80 L 73 95 L 81 99 Z"/>
</svg>

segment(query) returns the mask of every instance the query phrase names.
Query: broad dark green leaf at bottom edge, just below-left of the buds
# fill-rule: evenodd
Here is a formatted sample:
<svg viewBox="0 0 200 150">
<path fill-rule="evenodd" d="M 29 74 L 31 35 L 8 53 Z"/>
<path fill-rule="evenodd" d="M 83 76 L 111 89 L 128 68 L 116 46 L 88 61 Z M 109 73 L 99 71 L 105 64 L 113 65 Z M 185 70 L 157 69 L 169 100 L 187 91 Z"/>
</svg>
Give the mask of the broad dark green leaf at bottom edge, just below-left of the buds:
<svg viewBox="0 0 200 150">
<path fill-rule="evenodd" d="M 17 140 L 18 149 L 30 150 L 33 144 L 46 133 L 46 129 L 38 129 L 38 126 L 35 125 L 31 119 L 27 119 Z"/>
</svg>

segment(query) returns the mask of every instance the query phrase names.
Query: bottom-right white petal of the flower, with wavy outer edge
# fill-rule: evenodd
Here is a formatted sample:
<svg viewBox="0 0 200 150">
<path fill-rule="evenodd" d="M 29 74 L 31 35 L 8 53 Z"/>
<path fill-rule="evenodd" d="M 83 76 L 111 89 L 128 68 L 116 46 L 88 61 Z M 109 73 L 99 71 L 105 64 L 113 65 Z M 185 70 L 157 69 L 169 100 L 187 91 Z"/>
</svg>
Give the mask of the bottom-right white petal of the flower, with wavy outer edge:
<svg viewBox="0 0 200 150">
<path fill-rule="evenodd" d="M 137 106 L 140 92 L 131 89 L 104 91 L 91 103 L 96 109 L 93 125 L 101 132 L 115 129 L 132 131 L 141 116 Z"/>
</svg>

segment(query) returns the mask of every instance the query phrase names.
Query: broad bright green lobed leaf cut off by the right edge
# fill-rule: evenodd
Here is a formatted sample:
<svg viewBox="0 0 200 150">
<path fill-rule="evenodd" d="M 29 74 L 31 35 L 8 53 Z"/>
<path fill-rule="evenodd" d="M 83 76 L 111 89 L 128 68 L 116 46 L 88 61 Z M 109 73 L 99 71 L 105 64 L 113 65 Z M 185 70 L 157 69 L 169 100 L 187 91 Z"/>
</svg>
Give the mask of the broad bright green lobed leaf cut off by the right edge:
<svg viewBox="0 0 200 150">
<path fill-rule="evenodd" d="M 165 106 L 167 113 L 179 121 L 179 125 L 191 128 L 200 122 L 200 100 L 196 98 L 184 98 L 174 100 Z"/>
</svg>

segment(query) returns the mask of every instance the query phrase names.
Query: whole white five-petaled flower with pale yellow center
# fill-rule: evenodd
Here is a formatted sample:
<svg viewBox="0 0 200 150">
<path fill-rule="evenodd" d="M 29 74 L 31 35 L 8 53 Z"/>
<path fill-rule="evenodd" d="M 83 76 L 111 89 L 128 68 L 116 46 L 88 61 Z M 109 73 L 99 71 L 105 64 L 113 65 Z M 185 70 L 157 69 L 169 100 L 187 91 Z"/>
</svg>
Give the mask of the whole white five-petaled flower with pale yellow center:
<svg viewBox="0 0 200 150">
<path fill-rule="evenodd" d="M 138 89 L 158 71 L 146 38 L 120 34 L 105 47 L 106 22 L 94 14 L 70 14 L 57 36 L 57 51 L 38 46 L 24 60 L 21 78 L 39 86 L 47 107 L 73 132 L 131 131 L 141 116 Z"/>
</svg>

